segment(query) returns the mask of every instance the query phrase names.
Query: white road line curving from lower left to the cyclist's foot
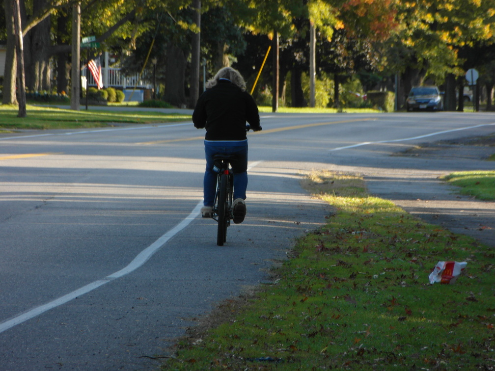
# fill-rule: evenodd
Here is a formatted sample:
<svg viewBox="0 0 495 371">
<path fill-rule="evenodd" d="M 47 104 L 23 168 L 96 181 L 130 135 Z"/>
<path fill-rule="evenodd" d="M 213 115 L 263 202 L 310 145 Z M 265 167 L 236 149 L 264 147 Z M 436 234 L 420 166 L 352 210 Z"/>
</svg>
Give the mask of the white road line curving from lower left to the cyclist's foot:
<svg viewBox="0 0 495 371">
<path fill-rule="evenodd" d="M 166 232 L 163 234 L 160 238 L 158 238 L 155 242 L 153 242 L 151 245 L 149 245 L 146 249 L 141 251 L 135 258 L 134 260 L 127 265 L 127 267 L 121 269 L 120 271 L 117 271 L 109 276 L 106 276 L 103 279 L 99 279 L 97 281 L 91 282 L 90 284 L 87 284 L 86 286 L 83 286 L 81 288 L 78 288 L 75 291 L 72 291 L 66 295 L 60 296 L 59 298 L 50 301 L 49 303 L 40 305 L 39 307 L 35 307 L 33 309 L 30 309 L 29 311 L 20 314 L 16 317 L 11 318 L 10 320 L 4 321 L 0 323 L 0 333 L 3 331 L 8 330 L 9 328 L 12 328 L 16 325 L 22 324 L 23 322 L 26 322 L 34 317 L 37 317 L 50 309 L 53 309 L 55 307 L 58 307 L 62 304 L 65 304 L 78 296 L 87 294 L 90 291 L 93 291 L 97 289 L 98 287 L 104 285 L 105 283 L 111 282 L 112 280 L 116 278 L 123 277 L 139 267 L 141 267 L 143 264 L 145 264 L 148 259 L 155 253 L 157 252 L 169 239 L 171 239 L 174 235 L 182 231 L 184 228 L 186 228 L 199 214 L 199 210 L 203 206 L 203 202 L 199 202 L 198 205 L 193 209 L 191 214 L 187 216 L 184 220 L 182 220 L 178 225 L 176 225 L 174 228 L 172 228 L 170 231 Z"/>
</svg>

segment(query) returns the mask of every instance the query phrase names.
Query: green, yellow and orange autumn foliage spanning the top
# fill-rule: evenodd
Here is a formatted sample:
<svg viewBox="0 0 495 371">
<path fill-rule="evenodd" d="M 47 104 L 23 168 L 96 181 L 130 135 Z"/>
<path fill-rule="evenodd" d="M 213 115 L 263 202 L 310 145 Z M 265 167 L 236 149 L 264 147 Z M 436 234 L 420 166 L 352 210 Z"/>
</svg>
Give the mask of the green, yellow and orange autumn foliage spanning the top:
<svg viewBox="0 0 495 371">
<path fill-rule="evenodd" d="M 62 80 L 58 89 L 68 84 L 63 69 L 67 68 L 70 53 L 74 2 L 20 0 L 28 89 L 49 88 L 50 78 L 43 76 L 53 74 L 53 58 L 58 67 L 57 83 Z M 129 71 L 143 66 L 155 40 L 152 55 L 163 61 L 158 67 L 160 78 L 179 68 L 168 65 L 174 58 L 184 65 L 180 73 L 187 74 L 191 37 L 199 31 L 191 2 L 82 0 L 81 35 L 96 36 L 99 51 L 120 55 Z M 2 4 L 0 40 L 10 50 L 13 35 L 9 4 Z M 472 57 L 495 45 L 493 1 L 203 0 L 201 13 L 201 55 L 209 61 L 210 73 L 221 64 L 235 62 L 253 72 L 252 66 L 263 59 L 267 37 L 274 32 L 281 37 L 282 75 L 288 71 L 300 73 L 308 68 L 309 30 L 315 27 L 318 73 L 399 73 L 408 81 L 406 85 L 424 79 L 440 85 L 446 76 L 462 77 L 469 67 L 478 67 L 487 80 L 493 75 L 491 61 Z M 253 42 L 261 44 L 250 45 Z M 15 63 L 13 52 L 7 55 L 4 85 L 10 86 L 15 81 Z M 15 90 L 10 92 L 15 101 Z M 8 102 L 5 94 L 9 93 L 4 89 L 3 102 Z"/>
</svg>

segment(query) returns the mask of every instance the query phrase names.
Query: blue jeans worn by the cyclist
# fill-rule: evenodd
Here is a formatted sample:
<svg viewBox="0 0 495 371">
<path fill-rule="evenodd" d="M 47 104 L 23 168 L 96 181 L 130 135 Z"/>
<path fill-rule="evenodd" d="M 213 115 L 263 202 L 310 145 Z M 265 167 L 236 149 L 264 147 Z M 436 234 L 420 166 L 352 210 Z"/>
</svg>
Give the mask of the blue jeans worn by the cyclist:
<svg viewBox="0 0 495 371">
<path fill-rule="evenodd" d="M 246 199 L 247 188 L 247 139 L 241 141 L 204 141 L 206 170 L 203 179 L 203 205 L 213 206 L 215 200 L 217 173 L 213 171 L 213 156 L 216 154 L 235 155 L 231 161 L 234 173 L 234 199 Z"/>
</svg>

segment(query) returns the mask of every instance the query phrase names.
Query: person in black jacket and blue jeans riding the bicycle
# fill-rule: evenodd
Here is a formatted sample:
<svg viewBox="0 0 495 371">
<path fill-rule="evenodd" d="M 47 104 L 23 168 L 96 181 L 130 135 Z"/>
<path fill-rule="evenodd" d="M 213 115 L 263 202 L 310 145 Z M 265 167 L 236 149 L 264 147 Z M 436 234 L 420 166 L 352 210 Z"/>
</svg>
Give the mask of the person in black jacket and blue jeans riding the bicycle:
<svg viewBox="0 0 495 371">
<path fill-rule="evenodd" d="M 197 129 L 206 129 L 204 152 L 206 170 L 203 179 L 203 218 L 211 218 L 217 174 L 213 171 L 213 156 L 234 155 L 229 162 L 234 173 L 233 221 L 242 223 L 246 216 L 247 137 L 246 122 L 253 131 L 261 130 L 256 102 L 246 91 L 246 82 L 231 67 L 221 68 L 206 83 L 207 90 L 199 96 L 193 112 Z"/>
</svg>

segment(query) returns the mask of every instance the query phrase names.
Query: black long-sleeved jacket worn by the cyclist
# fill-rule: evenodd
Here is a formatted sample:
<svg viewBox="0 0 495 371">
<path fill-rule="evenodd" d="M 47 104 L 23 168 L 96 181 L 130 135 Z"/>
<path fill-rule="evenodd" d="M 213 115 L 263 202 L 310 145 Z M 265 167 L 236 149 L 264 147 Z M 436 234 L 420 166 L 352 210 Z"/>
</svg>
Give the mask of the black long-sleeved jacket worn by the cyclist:
<svg viewBox="0 0 495 371">
<path fill-rule="evenodd" d="M 259 128 L 258 107 L 252 96 L 228 80 L 220 80 L 199 96 L 193 123 L 206 129 L 206 140 L 244 140 L 246 122 Z"/>
</svg>

